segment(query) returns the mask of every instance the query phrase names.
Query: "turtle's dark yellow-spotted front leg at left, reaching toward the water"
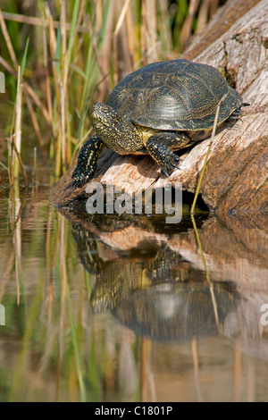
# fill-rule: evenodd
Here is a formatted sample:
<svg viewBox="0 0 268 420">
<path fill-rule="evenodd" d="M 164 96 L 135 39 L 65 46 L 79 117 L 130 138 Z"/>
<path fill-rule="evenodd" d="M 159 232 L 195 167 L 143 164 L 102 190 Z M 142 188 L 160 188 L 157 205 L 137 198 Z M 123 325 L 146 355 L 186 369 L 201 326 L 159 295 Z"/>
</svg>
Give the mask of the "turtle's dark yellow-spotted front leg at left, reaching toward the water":
<svg viewBox="0 0 268 420">
<path fill-rule="evenodd" d="M 86 182 L 92 180 L 103 147 L 103 140 L 95 134 L 80 148 L 77 166 L 71 176 L 72 184 L 75 187 L 82 187 Z"/>
</svg>

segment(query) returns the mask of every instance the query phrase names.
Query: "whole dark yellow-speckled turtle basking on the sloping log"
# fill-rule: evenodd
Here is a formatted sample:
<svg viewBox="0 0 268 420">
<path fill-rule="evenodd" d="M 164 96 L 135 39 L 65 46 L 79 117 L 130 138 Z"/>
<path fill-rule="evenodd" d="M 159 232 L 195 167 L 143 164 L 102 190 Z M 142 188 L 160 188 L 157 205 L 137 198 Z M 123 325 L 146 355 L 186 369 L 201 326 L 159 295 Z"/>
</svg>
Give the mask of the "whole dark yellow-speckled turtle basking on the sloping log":
<svg viewBox="0 0 268 420">
<path fill-rule="evenodd" d="M 151 155 L 163 175 L 171 175 L 180 164 L 174 152 L 209 136 L 221 100 L 217 127 L 239 112 L 242 97 L 207 64 L 168 60 L 130 73 L 105 104 L 92 106 L 95 134 L 80 148 L 72 183 L 81 187 L 92 180 L 103 147 L 119 155 Z"/>
</svg>

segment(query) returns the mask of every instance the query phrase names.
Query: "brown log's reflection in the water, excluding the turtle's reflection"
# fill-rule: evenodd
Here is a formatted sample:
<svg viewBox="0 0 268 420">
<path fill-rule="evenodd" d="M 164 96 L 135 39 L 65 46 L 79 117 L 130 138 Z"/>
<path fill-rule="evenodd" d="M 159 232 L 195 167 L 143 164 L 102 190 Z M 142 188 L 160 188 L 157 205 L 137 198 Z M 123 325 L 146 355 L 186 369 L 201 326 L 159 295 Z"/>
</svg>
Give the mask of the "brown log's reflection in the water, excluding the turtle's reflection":
<svg viewBox="0 0 268 420">
<path fill-rule="evenodd" d="M 189 221 L 184 230 L 167 231 L 159 218 L 129 215 L 125 219 L 114 214 L 82 217 L 64 212 L 74 226 L 90 232 L 98 243 L 98 255 L 104 261 L 161 246 L 179 254 L 196 270 L 204 271 L 204 261 L 197 246 L 196 232 Z M 268 292 L 268 218 L 259 215 L 257 221 L 251 216 L 239 219 L 235 215 L 220 221 L 210 217 L 198 228 L 198 235 L 205 254 L 211 280 L 233 281 L 238 288 L 265 290 Z M 140 254 L 138 254 L 140 255 Z M 268 297 L 268 296 L 267 296 Z"/>
</svg>

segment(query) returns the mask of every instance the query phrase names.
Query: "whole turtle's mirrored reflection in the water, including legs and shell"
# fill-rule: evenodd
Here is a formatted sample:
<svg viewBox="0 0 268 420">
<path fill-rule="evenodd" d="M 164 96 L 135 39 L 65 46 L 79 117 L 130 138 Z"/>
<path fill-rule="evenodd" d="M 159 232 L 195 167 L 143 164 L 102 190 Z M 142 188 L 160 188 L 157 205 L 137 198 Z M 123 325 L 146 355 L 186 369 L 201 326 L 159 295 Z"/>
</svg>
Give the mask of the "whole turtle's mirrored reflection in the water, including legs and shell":
<svg viewBox="0 0 268 420">
<path fill-rule="evenodd" d="M 238 304 L 231 283 L 216 282 L 212 290 L 203 272 L 164 244 L 148 238 L 128 252 L 113 251 L 79 223 L 72 233 L 81 263 L 96 280 L 94 313 L 110 310 L 138 334 L 163 340 L 214 334 Z"/>
</svg>

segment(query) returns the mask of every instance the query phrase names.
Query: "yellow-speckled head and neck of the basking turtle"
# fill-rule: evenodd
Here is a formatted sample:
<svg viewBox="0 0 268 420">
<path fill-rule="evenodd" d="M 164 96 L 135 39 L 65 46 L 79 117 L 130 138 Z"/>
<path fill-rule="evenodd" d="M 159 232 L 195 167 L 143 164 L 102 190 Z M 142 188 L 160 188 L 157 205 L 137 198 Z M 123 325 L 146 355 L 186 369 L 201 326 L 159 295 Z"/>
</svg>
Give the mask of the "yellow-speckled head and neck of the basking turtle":
<svg viewBox="0 0 268 420">
<path fill-rule="evenodd" d="M 143 147 L 142 140 L 135 126 L 109 105 L 93 105 L 90 120 L 96 134 L 106 147 L 120 155 L 128 155 Z"/>
</svg>

